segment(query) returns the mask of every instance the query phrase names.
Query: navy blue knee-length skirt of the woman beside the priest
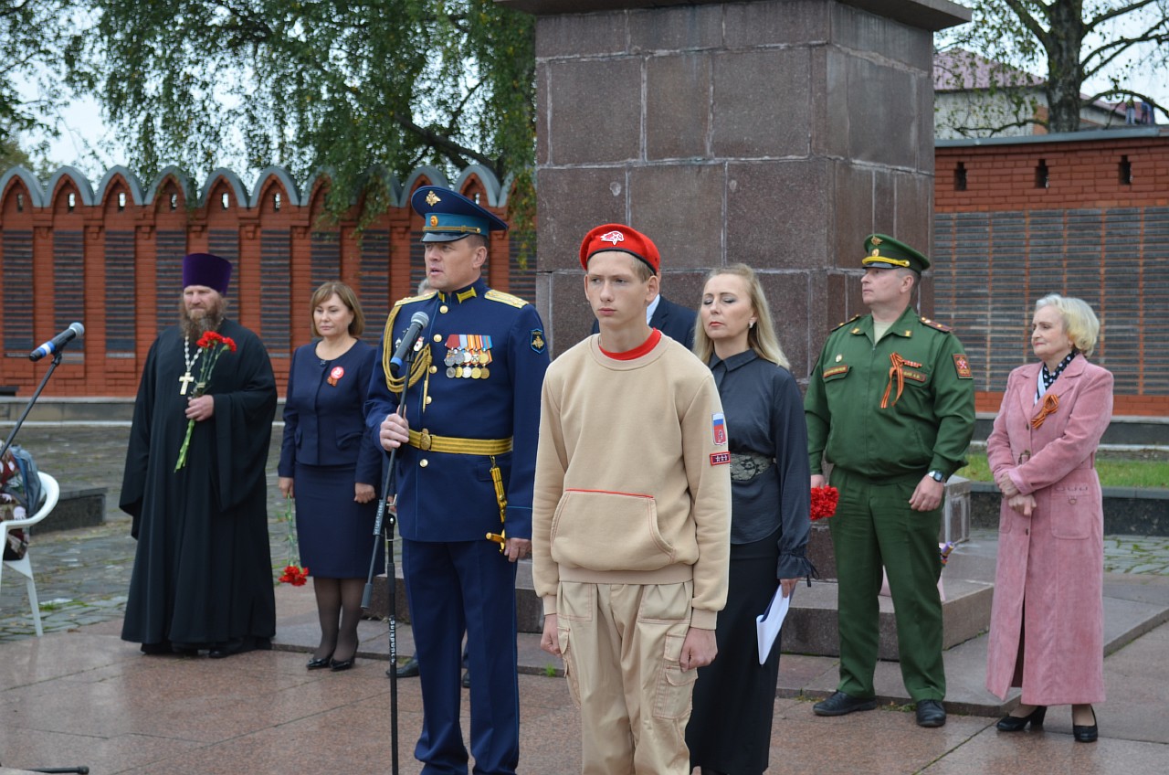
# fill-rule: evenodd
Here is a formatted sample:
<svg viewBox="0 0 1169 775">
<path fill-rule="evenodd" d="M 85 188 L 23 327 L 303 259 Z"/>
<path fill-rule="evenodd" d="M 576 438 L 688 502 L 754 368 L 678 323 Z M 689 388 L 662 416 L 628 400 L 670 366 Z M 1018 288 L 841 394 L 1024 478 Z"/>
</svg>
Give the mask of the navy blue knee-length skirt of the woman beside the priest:
<svg viewBox="0 0 1169 775">
<path fill-rule="evenodd" d="M 373 551 L 378 499 L 353 500 L 355 466 L 296 465 L 296 534 L 300 564 L 310 576 L 365 578 Z M 373 483 L 374 488 L 378 482 Z M 378 541 L 375 572 L 386 570 L 385 541 Z"/>
</svg>

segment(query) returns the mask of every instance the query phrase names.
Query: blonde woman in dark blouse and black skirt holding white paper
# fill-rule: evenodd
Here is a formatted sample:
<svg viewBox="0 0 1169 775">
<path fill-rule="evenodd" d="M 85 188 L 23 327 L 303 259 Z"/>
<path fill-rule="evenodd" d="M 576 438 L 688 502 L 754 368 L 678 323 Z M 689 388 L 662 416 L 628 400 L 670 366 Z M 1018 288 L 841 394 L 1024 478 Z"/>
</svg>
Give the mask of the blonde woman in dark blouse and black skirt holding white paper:
<svg viewBox="0 0 1169 775">
<path fill-rule="evenodd" d="M 731 576 L 719 613 L 719 656 L 700 667 L 686 727 L 691 764 L 704 775 L 767 769 L 780 647 L 759 664 L 755 617 L 776 585 L 784 597 L 812 572 L 808 430 L 770 309 L 750 267 L 706 280 L 694 354 L 711 366 L 731 451 Z"/>
</svg>

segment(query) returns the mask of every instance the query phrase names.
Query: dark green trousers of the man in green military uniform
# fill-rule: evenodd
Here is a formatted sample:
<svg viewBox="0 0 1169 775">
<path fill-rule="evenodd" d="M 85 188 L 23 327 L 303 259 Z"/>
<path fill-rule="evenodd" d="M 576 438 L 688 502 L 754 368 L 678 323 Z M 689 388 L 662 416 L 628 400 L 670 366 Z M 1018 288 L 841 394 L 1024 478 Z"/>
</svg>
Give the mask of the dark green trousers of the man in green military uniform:
<svg viewBox="0 0 1169 775">
<path fill-rule="evenodd" d="M 836 515 L 829 520 L 839 577 L 837 688 L 850 697 L 874 695 L 873 671 L 880 643 L 877 595 L 883 563 L 897 612 L 905 688 L 914 701 L 946 697 L 942 604 L 938 594 L 942 509 L 909 508 L 919 481 L 921 476 L 916 475 L 873 481 L 841 468 L 832 471 L 832 486 L 841 492 Z"/>
</svg>

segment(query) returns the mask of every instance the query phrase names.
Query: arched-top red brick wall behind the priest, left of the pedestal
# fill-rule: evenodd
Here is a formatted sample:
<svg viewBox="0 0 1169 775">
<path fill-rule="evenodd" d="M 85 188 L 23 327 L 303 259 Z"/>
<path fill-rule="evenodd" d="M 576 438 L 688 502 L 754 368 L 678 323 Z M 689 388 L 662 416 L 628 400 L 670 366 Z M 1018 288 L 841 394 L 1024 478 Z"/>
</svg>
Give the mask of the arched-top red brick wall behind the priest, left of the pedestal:
<svg viewBox="0 0 1169 775">
<path fill-rule="evenodd" d="M 448 185 L 434 169 L 415 171 L 394 204 L 359 238 L 353 221 L 323 219 L 327 180 L 302 197 L 283 170 L 270 169 L 249 193 L 231 172 L 216 171 L 188 206 L 186 179 L 165 171 L 143 193 L 123 167 L 97 193 L 76 170 L 48 185 L 21 169 L 0 177 L 0 386 L 30 395 L 47 361 L 28 352 L 79 321 L 85 335 L 65 350 L 46 396 L 133 396 L 158 331 L 174 324 L 186 253 L 213 252 L 234 265 L 230 315 L 255 330 L 272 358 L 277 383 L 292 350 L 311 338 L 313 289 L 340 279 L 366 311 L 364 338 L 376 342 L 394 300 L 409 295 L 421 272 L 421 219 L 409 207 L 417 186 Z M 486 170 L 452 186 L 506 218 L 506 191 Z M 493 234 L 487 282 L 531 294 L 535 262 L 520 269 L 506 234 Z M 411 274 L 411 268 L 414 274 Z"/>
</svg>

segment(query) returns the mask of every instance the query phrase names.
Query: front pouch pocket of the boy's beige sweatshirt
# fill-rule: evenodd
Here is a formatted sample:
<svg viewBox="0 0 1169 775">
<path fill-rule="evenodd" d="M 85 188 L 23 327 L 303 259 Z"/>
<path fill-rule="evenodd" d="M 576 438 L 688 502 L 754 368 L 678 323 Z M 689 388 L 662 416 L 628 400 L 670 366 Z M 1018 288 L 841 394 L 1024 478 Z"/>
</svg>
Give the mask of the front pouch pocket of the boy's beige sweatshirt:
<svg viewBox="0 0 1169 775">
<path fill-rule="evenodd" d="M 651 495 L 566 489 L 552 517 L 552 558 L 589 570 L 658 570 L 677 551 L 662 537 Z"/>
</svg>

